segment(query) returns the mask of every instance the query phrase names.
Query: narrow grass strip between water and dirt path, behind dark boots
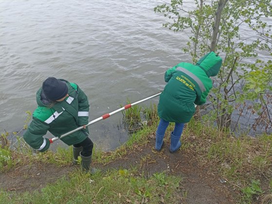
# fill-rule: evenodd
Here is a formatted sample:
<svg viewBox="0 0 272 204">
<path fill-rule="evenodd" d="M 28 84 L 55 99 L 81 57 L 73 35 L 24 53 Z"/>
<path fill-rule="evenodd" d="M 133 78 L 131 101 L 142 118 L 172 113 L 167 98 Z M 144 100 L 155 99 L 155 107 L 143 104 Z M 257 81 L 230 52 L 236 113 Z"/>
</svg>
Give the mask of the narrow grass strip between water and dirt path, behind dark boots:
<svg viewBox="0 0 272 204">
<path fill-rule="evenodd" d="M 154 108 L 156 106 L 152 106 Z M 139 110 L 138 105 L 135 105 L 135 108 Z M 147 108 L 148 109 L 148 108 Z M 144 109 L 146 111 L 147 109 Z M 129 109 L 127 109 L 129 110 Z M 127 142 L 120 147 L 118 147 L 115 151 L 110 153 L 105 153 L 102 151 L 101 148 L 96 147 L 94 145 L 93 153 L 92 153 L 92 160 L 93 162 L 100 163 L 100 164 L 107 164 L 109 161 L 112 161 L 116 158 L 122 158 L 123 155 L 127 153 L 127 150 L 133 149 L 136 145 L 143 145 L 146 142 L 148 142 L 148 136 L 156 131 L 157 128 L 157 122 L 158 117 L 154 117 L 154 110 L 150 109 L 149 111 L 152 113 L 150 115 L 150 118 L 148 119 L 148 125 L 144 125 L 143 129 L 131 134 L 127 140 Z M 151 117 L 152 116 L 152 117 Z M 8 149 L 9 153 L 11 152 L 10 149 Z M 56 166 L 62 167 L 67 166 L 71 164 L 71 158 L 73 158 L 73 149 L 72 146 L 68 148 L 64 147 L 58 147 L 55 152 L 47 151 L 46 153 L 39 153 L 36 152 L 36 155 L 33 155 L 32 150 L 26 145 L 24 140 L 22 138 L 18 138 L 17 148 L 16 151 L 13 151 L 13 161 L 18 161 L 22 154 L 24 154 L 24 157 L 28 160 L 27 162 L 34 162 L 34 161 L 43 161 L 46 163 L 52 163 Z M 24 161 L 22 161 L 24 162 Z M 15 162 L 16 163 L 16 162 Z M 6 166 L 4 170 L 8 170 L 12 168 L 15 163 L 10 163 Z"/>
</svg>

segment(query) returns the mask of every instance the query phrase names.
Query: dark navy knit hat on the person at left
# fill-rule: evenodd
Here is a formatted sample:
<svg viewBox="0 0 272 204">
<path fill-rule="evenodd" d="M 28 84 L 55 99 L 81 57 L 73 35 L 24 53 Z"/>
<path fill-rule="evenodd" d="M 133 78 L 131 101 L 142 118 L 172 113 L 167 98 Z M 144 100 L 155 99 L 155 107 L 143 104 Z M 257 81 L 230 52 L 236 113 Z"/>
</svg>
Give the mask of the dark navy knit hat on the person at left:
<svg viewBox="0 0 272 204">
<path fill-rule="evenodd" d="M 66 82 L 60 81 L 54 77 L 48 77 L 42 83 L 42 90 L 48 99 L 56 101 L 66 96 L 68 93 L 68 86 L 66 85 Z"/>
</svg>

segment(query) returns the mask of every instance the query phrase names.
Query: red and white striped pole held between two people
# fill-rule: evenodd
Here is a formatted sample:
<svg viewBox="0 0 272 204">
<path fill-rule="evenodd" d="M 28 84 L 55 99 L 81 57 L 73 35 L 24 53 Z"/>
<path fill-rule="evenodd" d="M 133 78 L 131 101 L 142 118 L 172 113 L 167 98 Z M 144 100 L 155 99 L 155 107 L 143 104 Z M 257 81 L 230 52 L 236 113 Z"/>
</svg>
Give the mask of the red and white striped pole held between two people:
<svg viewBox="0 0 272 204">
<path fill-rule="evenodd" d="M 98 122 L 98 121 L 100 121 L 100 120 L 102 120 L 102 119 L 107 119 L 107 118 L 109 118 L 110 116 L 112 116 L 113 114 L 118 113 L 118 112 L 120 112 L 120 111 L 122 111 L 122 110 L 126 110 L 126 109 L 130 108 L 131 106 L 136 105 L 136 104 L 138 104 L 138 103 L 140 103 L 140 102 L 144 102 L 144 101 L 147 101 L 147 100 L 149 100 L 149 99 L 152 99 L 152 98 L 154 98 L 154 97 L 156 97 L 156 96 L 159 96 L 160 94 L 161 94 L 161 93 L 155 94 L 155 95 L 150 96 L 150 97 L 147 97 L 147 98 L 145 98 L 145 99 L 143 99 L 143 100 L 141 100 L 141 101 L 127 104 L 127 105 L 125 105 L 125 106 L 122 107 L 122 108 L 119 108 L 119 109 L 117 109 L 117 110 L 115 110 L 115 111 L 112 111 L 112 112 L 110 112 L 110 113 L 104 114 L 103 116 L 101 116 L 101 117 L 99 117 L 99 118 L 97 118 L 97 119 L 91 120 L 91 121 L 86 125 L 86 127 L 89 126 L 89 125 L 91 125 L 91 124 L 93 124 L 93 123 L 95 123 L 95 122 Z M 60 138 L 63 138 L 63 137 L 65 137 L 65 136 L 71 135 L 72 133 L 74 133 L 74 132 L 76 132 L 76 131 L 79 131 L 79 130 L 81 130 L 81 129 L 83 129 L 83 126 L 80 126 L 80 127 L 76 128 L 76 129 L 74 129 L 74 130 L 72 130 L 72 131 L 70 131 L 70 132 L 68 132 L 68 133 L 65 133 L 65 134 L 61 135 L 60 137 L 57 137 L 57 136 L 56 136 L 56 137 L 54 137 L 54 138 L 51 138 L 51 139 L 49 139 L 49 141 L 50 141 L 50 143 L 53 143 L 54 141 L 56 141 L 56 140 L 58 140 L 58 139 L 60 139 Z"/>
</svg>

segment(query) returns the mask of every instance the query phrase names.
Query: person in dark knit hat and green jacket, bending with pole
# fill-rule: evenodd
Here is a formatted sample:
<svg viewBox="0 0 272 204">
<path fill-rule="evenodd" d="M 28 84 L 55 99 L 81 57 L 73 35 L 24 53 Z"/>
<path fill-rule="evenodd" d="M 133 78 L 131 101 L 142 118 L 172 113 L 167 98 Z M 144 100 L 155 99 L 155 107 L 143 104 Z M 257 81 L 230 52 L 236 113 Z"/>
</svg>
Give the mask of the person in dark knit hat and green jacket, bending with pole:
<svg viewBox="0 0 272 204">
<path fill-rule="evenodd" d="M 50 146 L 49 139 L 43 138 L 47 131 L 59 137 L 84 126 L 82 130 L 61 140 L 67 145 L 73 145 L 73 163 L 77 164 L 80 156 L 82 168 L 90 170 L 93 143 L 88 137 L 88 127 L 85 126 L 89 122 L 90 108 L 85 93 L 74 83 L 49 77 L 38 89 L 36 102 L 38 107 L 23 135 L 24 140 L 37 151 L 45 152 Z"/>
</svg>

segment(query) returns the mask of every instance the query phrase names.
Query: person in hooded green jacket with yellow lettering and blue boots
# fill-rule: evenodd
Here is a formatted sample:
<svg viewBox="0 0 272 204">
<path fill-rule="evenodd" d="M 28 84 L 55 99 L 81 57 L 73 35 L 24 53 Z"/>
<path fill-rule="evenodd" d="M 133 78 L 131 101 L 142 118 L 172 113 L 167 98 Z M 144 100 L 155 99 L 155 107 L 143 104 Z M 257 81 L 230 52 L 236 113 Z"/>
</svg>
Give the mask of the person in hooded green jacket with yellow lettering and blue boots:
<svg viewBox="0 0 272 204">
<path fill-rule="evenodd" d="M 168 84 L 165 85 L 158 104 L 160 123 L 156 131 L 156 151 L 162 149 L 169 122 L 175 122 L 169 151 L 175 153 L 181 147 L 180 137 L 184 123 L 193 117 L 195 104 L 203 105 L 206 102 L 213 86 L 210 77 L 218 74 L 221 65 L 221 57 L 211 51 L 196 65 L 181 62 L 165 72 L 164 80 Z"/>
</svg>

